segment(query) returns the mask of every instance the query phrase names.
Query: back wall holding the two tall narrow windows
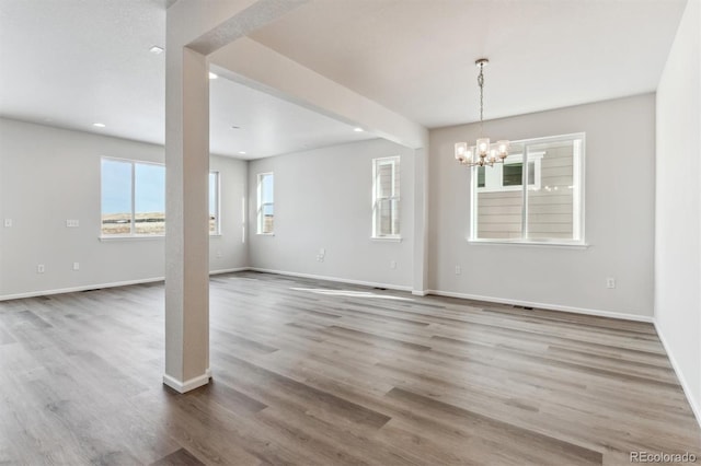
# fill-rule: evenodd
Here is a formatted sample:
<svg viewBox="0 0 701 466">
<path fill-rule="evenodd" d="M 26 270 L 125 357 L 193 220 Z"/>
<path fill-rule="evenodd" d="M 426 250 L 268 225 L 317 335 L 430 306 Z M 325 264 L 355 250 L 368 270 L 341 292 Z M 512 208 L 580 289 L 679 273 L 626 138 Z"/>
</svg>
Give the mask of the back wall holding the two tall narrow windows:
<svg viewBox="0 0 701 466">
<path fill-rule="evenodd" d="M 376 139 L 250 162 L 251 266 L 411 289 L 413 153 Z M 371 161 L 391 155 L 401 155 L 401 243 L 370 240 Z M 273 236 L 256 234 L 256 177 L 265 172 L 275 174 Z"/>
</svg>

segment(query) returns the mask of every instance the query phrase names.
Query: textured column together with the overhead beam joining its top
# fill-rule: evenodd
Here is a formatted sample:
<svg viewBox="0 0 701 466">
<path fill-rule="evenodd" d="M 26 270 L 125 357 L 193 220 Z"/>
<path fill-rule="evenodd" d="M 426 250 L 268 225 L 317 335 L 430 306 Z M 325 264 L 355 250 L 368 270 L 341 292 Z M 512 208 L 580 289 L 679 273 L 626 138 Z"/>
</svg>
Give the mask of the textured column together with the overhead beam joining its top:
<svg viewBox="0 0 701 466">
<path fill-rule="evenodd" d="M 307 0 L 179 0 L 165 27 L 165 374 L 209 382 L 209 67 L 218 48 Z"/>
</svg>

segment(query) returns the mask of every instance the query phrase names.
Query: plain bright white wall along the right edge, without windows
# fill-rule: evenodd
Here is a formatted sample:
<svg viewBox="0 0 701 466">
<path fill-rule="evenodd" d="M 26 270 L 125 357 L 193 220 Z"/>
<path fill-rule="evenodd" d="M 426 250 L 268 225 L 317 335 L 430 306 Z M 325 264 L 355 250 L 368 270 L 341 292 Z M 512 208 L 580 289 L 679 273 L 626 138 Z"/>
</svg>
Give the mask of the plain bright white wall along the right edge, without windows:
<svg viewBox="0 0 701 466">
<path fill-rule="evenodd" d="M 657 88 L 655 321 L 701 422 L 701 2 Z"/>
</svg>

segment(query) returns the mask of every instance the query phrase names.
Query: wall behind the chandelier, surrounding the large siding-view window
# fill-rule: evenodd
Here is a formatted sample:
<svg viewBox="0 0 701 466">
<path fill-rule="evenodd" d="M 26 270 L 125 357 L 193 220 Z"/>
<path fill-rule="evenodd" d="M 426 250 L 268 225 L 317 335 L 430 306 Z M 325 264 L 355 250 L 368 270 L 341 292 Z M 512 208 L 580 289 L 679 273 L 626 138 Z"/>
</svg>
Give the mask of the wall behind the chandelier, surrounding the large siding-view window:
<svg viewBox="0 0 701 466">
<path fill-rule="evenodd" d="M 633 96 L 487 121 L 493 139 L 586 132 L 588 248 L 469 244 L 470 177 L 453 143 L 479 125 L 430 131 L 429 288 L 594 313 L 653 315 L 655 97 Z M 489 170 L 489 168 L 487 168 Z M 455 273 L 461 266 L 462 275 Z M 617 279 L 616 289 L 606 278 Z"/>
</svg>

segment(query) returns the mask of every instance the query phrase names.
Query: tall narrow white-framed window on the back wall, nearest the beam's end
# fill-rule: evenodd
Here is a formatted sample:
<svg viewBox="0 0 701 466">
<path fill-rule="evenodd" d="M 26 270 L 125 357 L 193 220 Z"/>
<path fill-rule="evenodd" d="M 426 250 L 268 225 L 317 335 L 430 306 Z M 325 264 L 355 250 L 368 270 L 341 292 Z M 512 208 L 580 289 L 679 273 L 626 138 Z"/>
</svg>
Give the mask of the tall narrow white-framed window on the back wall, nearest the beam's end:
<svg viewBox="0 0 701 466">
<path fill-rule="evenodd" d="M 372 237 L 400 237 L 399 160 L 399 156 L 372 160 Z"/>
</svg>

